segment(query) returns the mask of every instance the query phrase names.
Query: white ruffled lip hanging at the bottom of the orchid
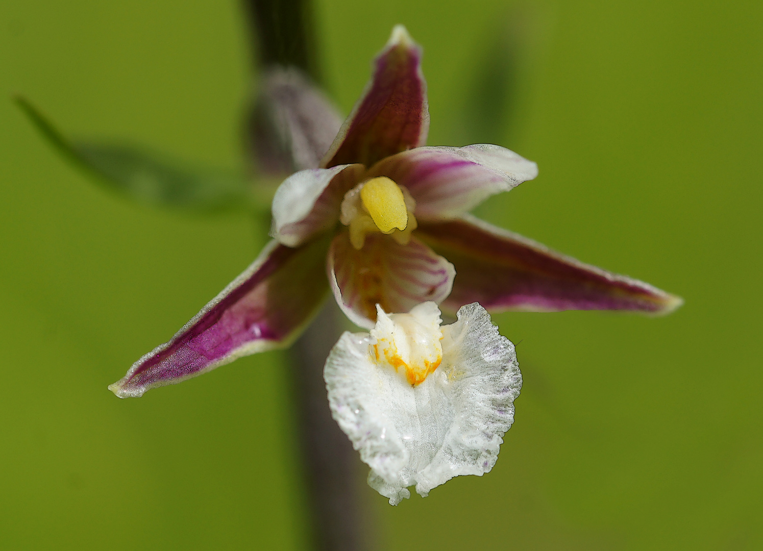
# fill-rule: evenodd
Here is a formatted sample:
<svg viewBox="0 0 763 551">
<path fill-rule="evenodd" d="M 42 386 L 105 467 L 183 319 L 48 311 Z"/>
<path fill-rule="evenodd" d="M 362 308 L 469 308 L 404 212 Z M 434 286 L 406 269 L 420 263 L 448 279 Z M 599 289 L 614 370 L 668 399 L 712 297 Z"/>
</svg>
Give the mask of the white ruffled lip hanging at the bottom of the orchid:
<svg viewBox="0 0 763 551">
<path fill-rule="evenodd" d="M 431 352 L 420 339 L 437 326 L 433 302 L 410 314 L 380 309 L 373 336 L 344 333 L 324 369 L 334 419 L 371 467 L 369 485 L 393 505 L 410 497 L 408 486 L 426 496 L 454 476 L 489 472 L 522 386 L 513 344 L 476 302 L 439 327 L 442 362 L 420 384 L 377 353 L 388 345 L 385 334 L 399 343 L 405 333 L 406 357 L 415 362 L 416 350 Z"/>
</svg>

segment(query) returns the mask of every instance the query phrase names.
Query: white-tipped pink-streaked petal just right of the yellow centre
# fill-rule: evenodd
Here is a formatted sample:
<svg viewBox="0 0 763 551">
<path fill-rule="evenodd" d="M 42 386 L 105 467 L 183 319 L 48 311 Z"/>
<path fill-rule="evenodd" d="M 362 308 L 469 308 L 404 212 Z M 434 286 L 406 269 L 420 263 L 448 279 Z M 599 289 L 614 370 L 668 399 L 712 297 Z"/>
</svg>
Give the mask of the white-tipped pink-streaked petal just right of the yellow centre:
<svg viewBox="0 0 763 551">
<path fill-rule="evenodd" d="M 419 147 L 381 159 L 369 176 L 388 176 L 416 199 L 420 221 L 455 218 L 485 198 L 538 176 L 533 161 L 505 147 Z"/>
</svg>

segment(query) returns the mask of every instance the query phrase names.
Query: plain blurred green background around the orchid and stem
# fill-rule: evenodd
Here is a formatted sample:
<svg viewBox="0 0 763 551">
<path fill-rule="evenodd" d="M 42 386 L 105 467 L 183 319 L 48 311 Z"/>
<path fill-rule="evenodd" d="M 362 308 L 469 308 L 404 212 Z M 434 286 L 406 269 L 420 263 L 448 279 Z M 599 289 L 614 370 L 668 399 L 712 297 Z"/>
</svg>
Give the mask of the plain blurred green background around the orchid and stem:
<svg viewBox="0 0 763 551">
<path fill-rule="evenodd" d="M 397 508 L 368 488 L 379 548 L 763 548 L 763 4 L 316 11 L 345 113 L 406 24 L 425 49 L 430 143 L 497 141 L 539 163 L 478 214 L 686 299 L 657 319 L 495 316 L 524 375 L 500 460 Z M 106 390 L 250 263 L 261 224 L 130 204 L 10 101 L 237 169 L 248 44 L 237 2 L 0 3 L 2 549 L 306 545 L 282 353 L 140 400 Z M 502 63 L 514 85 L 491 73 Z"/>
</svg>

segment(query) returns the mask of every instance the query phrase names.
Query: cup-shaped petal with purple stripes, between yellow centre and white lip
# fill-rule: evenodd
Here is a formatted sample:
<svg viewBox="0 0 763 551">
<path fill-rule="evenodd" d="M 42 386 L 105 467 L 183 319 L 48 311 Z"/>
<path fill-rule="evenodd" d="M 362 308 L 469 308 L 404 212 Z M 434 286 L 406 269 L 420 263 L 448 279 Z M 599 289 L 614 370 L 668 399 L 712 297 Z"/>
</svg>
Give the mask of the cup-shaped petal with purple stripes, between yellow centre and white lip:
<svg viewBox="0 0 763 551">
<path fill-rule="evenodd" d="M 453 265 L 415 237 L 400 245 L 388 235 L 369 234 L 361 250 L 346 231 L 336 235 L 327 262 L 336 302 L 354 324 L 374 327 L 376 304 L 388 312 L 407 312 L 449 294 Z"/>
</svg>

